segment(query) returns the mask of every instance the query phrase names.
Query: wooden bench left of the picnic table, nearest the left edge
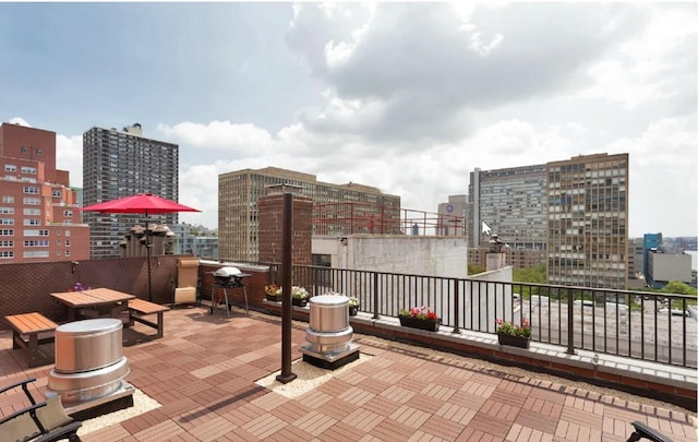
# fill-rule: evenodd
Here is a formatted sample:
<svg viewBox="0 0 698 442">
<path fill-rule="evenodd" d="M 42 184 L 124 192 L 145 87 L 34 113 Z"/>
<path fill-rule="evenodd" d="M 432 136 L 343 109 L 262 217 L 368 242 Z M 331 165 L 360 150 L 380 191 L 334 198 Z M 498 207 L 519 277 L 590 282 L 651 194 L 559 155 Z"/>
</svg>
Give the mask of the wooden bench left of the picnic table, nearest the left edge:
<svg viewBox="0 0 698 442">
<path fill-rule="evenodd" d="M 58 326 L 57 323 L 37 312 L 13 314 L 4 319 L 12 327 L 12 348 L 24 348 L 27 351 L 29 367 L 53 363 L 53 348 L 43 349 L 39 345 L 55 341 L 53 331 Z M 40 333 L 51 335 L 39 338 Z"/>
</svg>

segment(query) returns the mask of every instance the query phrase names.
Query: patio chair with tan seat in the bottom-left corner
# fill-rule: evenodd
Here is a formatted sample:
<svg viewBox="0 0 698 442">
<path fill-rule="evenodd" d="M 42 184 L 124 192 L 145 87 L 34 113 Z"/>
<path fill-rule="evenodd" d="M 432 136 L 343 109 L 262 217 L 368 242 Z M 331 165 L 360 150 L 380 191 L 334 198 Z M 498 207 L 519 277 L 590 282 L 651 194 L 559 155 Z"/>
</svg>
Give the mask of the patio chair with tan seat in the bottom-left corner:
<svg viewBox="0 0 698 442">
<path fill-rule="evenodd" d="M 69 440 L 80 442 L 77 429 L 82 422 L 73 420 L 65 414 L 60 396 L 52 396 L 46 402 L 36 403 L 27 384 L 36 378 L 15 382 L 0 389 L 4 393 L 21 386 L 29 399 L 31 406 L 0 418 L 0 442 L 33 441 L 48 442 Z"/>
</svg>

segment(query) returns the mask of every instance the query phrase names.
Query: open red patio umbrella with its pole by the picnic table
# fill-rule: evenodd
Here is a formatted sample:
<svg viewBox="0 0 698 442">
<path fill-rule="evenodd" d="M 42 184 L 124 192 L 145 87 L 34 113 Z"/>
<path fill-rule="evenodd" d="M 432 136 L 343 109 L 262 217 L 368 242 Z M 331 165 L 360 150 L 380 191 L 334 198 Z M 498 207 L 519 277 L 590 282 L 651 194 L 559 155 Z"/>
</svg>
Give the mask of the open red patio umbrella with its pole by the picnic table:
<svg viewBox="0 0 698 442">
<path fill-rule="evenodd" d="M 148 261 L 148 300 L 153 300 L 151 287 L 151 241 L 148 230 L 148 215 L 157 215 L 174 212 L 201 212 L 177 201 L 167 200 L 153 193 L 139 193 L 132 196 L 124 196 L 118 200 L 106 201 L 104 203 L 93 204 L 81 208 L 84 212 L 101 212 L 101 213 L 142 213 L 145 215 L 145 252 Z"/>
</svg>

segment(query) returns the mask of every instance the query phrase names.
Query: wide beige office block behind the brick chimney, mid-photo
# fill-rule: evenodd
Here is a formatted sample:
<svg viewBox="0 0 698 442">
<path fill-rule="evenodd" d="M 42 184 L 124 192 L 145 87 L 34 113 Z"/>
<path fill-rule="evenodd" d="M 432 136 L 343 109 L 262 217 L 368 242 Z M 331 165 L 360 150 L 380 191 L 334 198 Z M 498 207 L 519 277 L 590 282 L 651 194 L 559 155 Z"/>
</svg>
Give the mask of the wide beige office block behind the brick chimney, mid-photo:
<svg viewBox="0 0 698 442">
<path fill-rule="evenodd" d="M 351 182 L 320 182 L 314 175 L 276 167 L 243 169 L 218 176 L 218 254 L 221 260 L 257 261 L 257 200 L 267 194 L 269 187 L 281 184 L 296 187 L 298 193 L 313 200 L 315 218 L 324 217 L 326 222 L 313 226 L 316 232 L 321 229 L 326 235 L 348 235 L 347 224 L 356 228 L 351 230 L 353 232 L 387 234 L 393 228 L 399 231 L 399 196 Z M 317 214 L 318 207 L 334 203 L 337 206 Z M 346 207 L 341 207 L 342 203 Z"/>
</svg>

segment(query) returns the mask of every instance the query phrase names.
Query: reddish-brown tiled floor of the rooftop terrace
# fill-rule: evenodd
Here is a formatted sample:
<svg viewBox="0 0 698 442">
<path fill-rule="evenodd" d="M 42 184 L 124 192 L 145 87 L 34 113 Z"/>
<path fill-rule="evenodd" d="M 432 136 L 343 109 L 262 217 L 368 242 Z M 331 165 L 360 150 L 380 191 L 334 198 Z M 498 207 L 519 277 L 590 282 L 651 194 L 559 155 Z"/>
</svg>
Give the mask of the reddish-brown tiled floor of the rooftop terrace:
<svg viewBox="0 0 698 442">
<path fill-rule="evenodd" d="M 124 348 L 127 380 L 161 407 L 83 441 L 626 441 L 634 420 L 698 440 L 688 413 L 364 335 L 354 341 L 371 358 L 288 398 L 255 384 L 280 369 L 280 333 L 279 318 L 258 313 L 166 312 L 164 338 Z M 51 366 L 27 369 L 10 337 L 0 333 L 0 385 L 37 377 L 43 393 Z M 17 397 L 1 395 L 0 415 L 23 407 Z"/>
</svg>

